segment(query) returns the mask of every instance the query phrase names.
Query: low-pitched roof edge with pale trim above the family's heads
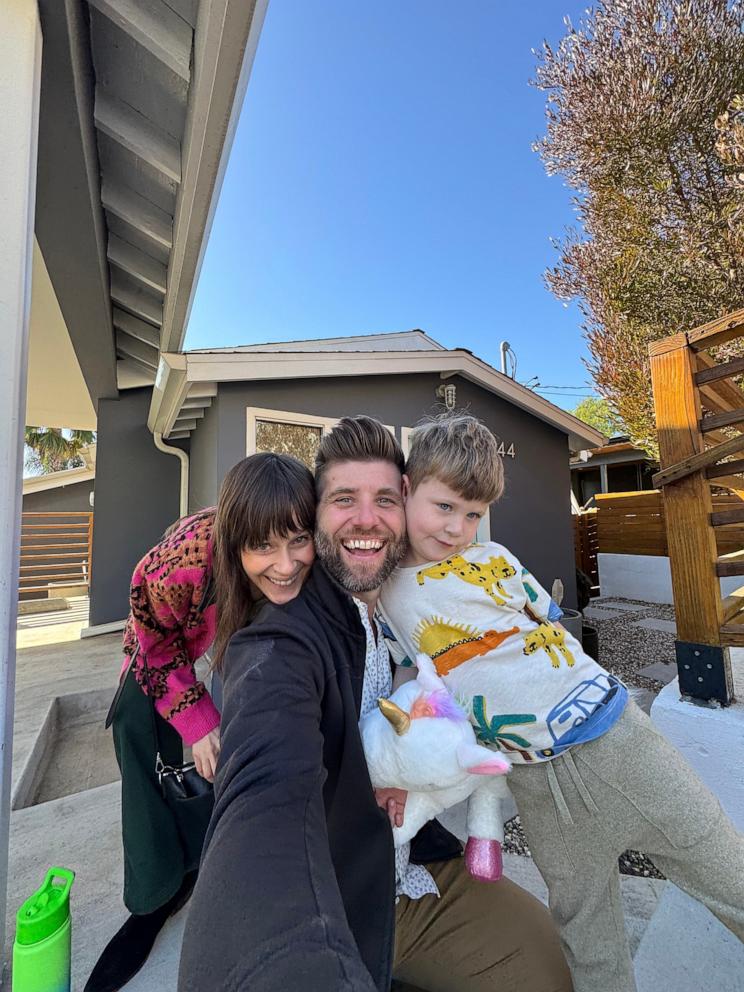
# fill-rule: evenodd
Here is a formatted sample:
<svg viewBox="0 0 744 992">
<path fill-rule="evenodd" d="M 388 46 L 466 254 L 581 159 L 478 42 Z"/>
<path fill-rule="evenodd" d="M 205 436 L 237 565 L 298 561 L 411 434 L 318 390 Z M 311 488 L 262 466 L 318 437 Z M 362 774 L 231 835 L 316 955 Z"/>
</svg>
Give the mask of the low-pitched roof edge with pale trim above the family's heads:
<svg viewBox="0 0 744 992">
<path fill-rule="evenodd" d="M 443 348 L 422 331 L 372 337 L 375 339 L 373 348 L 365 347 L 365 337 L 351 337 L 341 339 L 343 350 L 335 346 L 339 339 L 327 338 L 300 342 L 303 345 L 312 344 L 312 350 L 303 347 L 279 351 L 272 345 L 162 354 L 148 427 L 153 433 L 160 432 L 166 438 L 188 437 L 211 404 L 220 382 L 434 372 L 442 379 L 461 375 L 527 410 L 567 434 L 572 451 L 596 447 L 604 441 L 599 431 L 497 372 L 466 349 Z M 422 339 L 425 339 L 425 348 L 401 347 L 402 343 L 420 342 Z"/>
</svg>

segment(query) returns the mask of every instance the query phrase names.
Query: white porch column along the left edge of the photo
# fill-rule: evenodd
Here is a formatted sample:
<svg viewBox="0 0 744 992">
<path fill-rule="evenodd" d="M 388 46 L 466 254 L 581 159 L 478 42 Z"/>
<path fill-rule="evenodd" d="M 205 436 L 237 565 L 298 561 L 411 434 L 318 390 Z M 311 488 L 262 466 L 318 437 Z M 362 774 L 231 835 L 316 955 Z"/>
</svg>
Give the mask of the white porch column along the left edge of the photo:
<svg viewBox="0 0 744 992">
<path fill-rule="evenodd" d="M 5 939 L 18 546 L 36 197 L 41 27 L 36 0 L 0 3 L 0 937 Z"/>
</svg>

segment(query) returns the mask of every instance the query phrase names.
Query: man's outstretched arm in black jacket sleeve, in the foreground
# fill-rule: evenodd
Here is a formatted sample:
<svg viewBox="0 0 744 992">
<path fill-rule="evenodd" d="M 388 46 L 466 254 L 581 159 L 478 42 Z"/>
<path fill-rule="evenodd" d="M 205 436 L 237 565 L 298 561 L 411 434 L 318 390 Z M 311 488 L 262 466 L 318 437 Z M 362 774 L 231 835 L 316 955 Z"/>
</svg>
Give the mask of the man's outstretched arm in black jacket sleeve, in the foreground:
<svg viewBox="0 0 744 992">
<path fill-rule="evenodd" d="M 184 935 L 180 992 L 374 992 L 331 861 L 323 659 L 289 624 L 226 656 L 215 811 Z"/>
</svg>

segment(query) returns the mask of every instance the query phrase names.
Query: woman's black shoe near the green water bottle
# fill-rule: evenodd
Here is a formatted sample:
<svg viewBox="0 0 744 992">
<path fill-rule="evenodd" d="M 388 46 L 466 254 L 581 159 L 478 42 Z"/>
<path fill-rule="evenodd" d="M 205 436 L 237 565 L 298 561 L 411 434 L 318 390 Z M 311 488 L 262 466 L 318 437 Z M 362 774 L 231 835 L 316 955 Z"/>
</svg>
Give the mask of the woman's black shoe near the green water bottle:
<svg viewBox="0 0 744 992">
<path fill-rule="evenodd" d="M 152 913 L 130 916 L 104 948 L 83 992 L 118 992 L 134 978 L 147 961 L 165 921 L 188 901 L 195 881 L 196 872 L 189 872 L 164 906 Z"/>
</svg>

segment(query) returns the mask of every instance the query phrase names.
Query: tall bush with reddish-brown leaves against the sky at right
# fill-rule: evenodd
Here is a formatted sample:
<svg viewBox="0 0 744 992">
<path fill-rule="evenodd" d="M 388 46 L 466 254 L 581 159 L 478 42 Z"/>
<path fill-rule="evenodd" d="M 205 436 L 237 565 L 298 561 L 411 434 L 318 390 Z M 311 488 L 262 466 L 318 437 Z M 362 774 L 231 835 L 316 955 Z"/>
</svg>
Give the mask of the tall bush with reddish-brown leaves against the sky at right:
<svg viewBox="0 0 744 992">
<path fill-rule="evenodd" d="M 743 9 L 597 0 L 538 53 L 535 147 L 580 222 L 546 280 L 579 301 L 597 390 L 649 451 L 649 343 L 744 303 Z"/>
</svg>

